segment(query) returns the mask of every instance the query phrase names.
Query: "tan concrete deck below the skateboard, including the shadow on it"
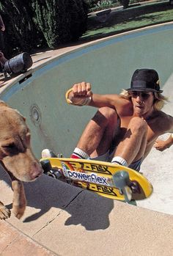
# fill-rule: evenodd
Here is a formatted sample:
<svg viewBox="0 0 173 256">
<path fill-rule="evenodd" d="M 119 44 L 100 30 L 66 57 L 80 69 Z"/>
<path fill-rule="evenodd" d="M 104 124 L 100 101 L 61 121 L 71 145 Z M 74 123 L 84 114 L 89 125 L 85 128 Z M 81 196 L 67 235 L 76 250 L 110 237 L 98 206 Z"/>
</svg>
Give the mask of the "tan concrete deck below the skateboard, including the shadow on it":
<svg viewBox="0 0 173 256">
<path fill-rule="evenodd" d="M 169 214 L 108 200 L 45 175 L 25 185 L 26 213 L 7 222 L 56 255 L 172 255 Z M 4 181 L 1 190 L 10 206 L 12 191 Z"/>
</svg>

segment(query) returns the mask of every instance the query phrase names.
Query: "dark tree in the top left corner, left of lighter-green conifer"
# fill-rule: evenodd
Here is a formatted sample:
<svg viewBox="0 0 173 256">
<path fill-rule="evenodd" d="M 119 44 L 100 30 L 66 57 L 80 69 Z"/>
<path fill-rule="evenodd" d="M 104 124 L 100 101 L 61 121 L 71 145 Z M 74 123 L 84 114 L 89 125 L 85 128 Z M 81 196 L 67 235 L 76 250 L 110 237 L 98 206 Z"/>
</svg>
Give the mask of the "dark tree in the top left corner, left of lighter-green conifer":
<svg viewBox="0 0 173 256">
<path fill-rule="evenodd" d="M 14 49 L 29 51 L 35 47 L 39 32 L 32 20 L 32 8 L 28 1 L 0 1 L 0 10 L 6 26 L 5 42 L 8 54 L 11 54 Z"/>
</svg>

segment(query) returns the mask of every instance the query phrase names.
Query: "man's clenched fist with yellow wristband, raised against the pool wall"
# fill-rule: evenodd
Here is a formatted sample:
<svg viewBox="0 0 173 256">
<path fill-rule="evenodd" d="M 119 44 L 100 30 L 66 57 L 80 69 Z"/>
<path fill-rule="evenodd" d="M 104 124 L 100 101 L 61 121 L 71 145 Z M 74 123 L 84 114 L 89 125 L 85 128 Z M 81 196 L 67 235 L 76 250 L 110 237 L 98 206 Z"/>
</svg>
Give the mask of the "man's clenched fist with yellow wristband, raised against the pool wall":
<svg viewBox="0 0 173 256">
<path fill-rule="evenodd" d="M 91 84 L 81 82 L 74 84 L 73 87 L 66 93 L 67 103 L 78 106 L 89 105 L 92 100 Z"/>
</svg>

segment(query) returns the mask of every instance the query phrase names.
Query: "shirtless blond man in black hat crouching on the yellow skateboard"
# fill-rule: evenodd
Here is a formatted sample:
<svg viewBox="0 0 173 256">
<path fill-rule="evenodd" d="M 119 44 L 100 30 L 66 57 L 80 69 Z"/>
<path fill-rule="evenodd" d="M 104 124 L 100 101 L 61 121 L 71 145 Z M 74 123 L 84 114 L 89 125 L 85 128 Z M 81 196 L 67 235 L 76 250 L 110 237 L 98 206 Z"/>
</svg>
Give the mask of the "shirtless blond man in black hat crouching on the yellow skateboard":
<svg viewBox="0 0 173 256">
<path fill-rule="evenodd" d="M 93 94 L 91 84 L 74 84 L 67 103 L 99 109 L 71 158 L 111 161 L 139 171 L 158 136 L 173 133 L 173 117 L 161 111 L 166 100 L 161 92 L 158 73 L 150 69 L 136 70 L 130 88 L 120 95 Z"/>
</svg>

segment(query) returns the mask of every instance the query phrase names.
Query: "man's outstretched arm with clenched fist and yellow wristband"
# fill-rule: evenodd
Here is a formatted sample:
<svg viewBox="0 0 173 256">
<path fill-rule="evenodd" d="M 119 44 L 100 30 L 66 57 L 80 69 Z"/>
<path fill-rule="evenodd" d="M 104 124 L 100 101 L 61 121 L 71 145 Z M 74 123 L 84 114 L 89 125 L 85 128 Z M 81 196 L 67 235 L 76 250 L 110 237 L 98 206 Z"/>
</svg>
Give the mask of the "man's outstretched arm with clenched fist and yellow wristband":
<svg viewBox="0 0 173 256">
<path fill-rule="evenodd" d="M 81 82 L 74 84 L 66 92 L 67 103 L 76 106 L 94 106 L 97 108 L 103 106 L 115 107 L 116 104 L 122 102 L 122 98 L 119 95 L 99 95 L 93 94 L 91 84 L 86 82 Z"/>
</svg>

